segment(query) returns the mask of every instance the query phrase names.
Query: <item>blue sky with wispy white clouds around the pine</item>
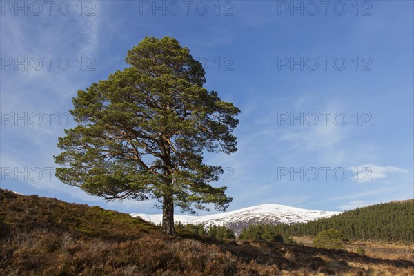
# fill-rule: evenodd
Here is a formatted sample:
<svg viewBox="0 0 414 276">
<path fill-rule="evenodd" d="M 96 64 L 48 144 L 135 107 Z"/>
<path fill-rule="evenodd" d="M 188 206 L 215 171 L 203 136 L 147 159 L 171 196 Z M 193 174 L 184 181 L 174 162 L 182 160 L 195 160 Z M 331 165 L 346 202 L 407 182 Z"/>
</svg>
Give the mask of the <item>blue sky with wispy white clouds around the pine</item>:
<svg viewBox="0 0 414 276">
<path fill-rule="evenodd" d="M 52 156 L 77 90 L 125 68 L 144 37 L 170 36 L 242 110 L 239 151 L 206 155 L 226 168 L 214 185 L 228 210 L 414 197 L 413 1 L 37 3 L 1 2 L 1 188 L 159 213 L 61 183 Z"/>
</svg>

